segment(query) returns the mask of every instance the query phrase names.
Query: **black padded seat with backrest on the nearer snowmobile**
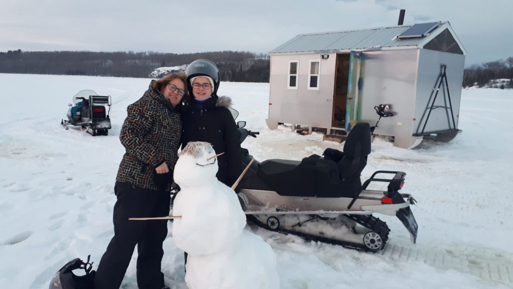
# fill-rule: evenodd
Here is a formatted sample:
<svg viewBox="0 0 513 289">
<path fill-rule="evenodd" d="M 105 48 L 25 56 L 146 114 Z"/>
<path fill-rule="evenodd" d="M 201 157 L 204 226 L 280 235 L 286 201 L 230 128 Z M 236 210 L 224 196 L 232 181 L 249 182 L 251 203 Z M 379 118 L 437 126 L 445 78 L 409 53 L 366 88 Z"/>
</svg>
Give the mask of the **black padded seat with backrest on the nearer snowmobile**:
<svg viewBox="0 0 513 289">
<path fill-rule="evenodd" d="M 370 153 L 369 124 L 354 125 L 344 152 L 336 151 L 328 151 L 328 157 L 314 154 L 301 162 L 265 160 L 257 174 L 282 196 L 353 197 L 361 191 L 360 174 Z"/>
</svg>

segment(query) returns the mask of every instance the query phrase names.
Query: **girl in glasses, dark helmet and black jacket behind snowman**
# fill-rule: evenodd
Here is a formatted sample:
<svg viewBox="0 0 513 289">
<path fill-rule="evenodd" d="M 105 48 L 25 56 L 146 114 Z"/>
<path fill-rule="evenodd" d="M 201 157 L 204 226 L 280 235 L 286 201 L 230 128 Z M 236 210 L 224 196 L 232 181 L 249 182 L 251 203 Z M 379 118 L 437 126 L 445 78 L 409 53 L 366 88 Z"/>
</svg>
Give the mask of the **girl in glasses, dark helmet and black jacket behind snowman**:
<svg viewBox="0 0 513 289">
<path fill-rule="evenodd" d="M 216 177 L 231 187 L 242 172 L 239 132 L 229 107 L 231 99 L 218 97 L 219 69 L 206 59 L 198 59 L 185 70 L 190 101 L 182 112 L 182 149 L 190 141 L 206 141 L 213 145 L 218 157 Z"/>
</svg>

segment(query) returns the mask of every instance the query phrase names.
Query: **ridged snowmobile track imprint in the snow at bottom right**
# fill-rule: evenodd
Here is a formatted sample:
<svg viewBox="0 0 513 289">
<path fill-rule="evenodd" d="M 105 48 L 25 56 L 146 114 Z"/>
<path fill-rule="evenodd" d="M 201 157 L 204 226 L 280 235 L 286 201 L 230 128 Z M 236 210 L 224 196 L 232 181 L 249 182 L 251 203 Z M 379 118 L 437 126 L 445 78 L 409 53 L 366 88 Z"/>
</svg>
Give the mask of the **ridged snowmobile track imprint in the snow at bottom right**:
<svg viewBox="0 0 513 289">
<path fill-rule="evenodd" d="M 444 247 L 435 245 L 421 248 L 417 245 L 389 243 L 376 254 L 394 261 L 420 261 L 440 269 L 457 270 L 485 281 L 513 284 L 513 254 L 483 247 L 460 246 L 449 249 L 451 246 L 448 244 Z"/>
</svg>

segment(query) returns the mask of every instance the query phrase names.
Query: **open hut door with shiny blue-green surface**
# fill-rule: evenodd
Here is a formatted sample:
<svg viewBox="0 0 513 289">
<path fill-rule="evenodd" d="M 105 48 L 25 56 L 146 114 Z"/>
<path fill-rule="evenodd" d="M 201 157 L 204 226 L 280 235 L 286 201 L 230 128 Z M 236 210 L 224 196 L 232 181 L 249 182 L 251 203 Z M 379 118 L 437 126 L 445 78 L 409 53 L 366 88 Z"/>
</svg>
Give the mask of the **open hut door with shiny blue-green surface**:
<svg viewBox="0 0 513 289">
<path fill-rule="evenodd" d="M 347 80 L 346 132 L 351 131 L 351 128 L 360 118 L 358 115 L 358 93 L 361 67 L 362 53 L 360 51 L 351 51 L 349 57 L 349 77 Z"/>
</svg>

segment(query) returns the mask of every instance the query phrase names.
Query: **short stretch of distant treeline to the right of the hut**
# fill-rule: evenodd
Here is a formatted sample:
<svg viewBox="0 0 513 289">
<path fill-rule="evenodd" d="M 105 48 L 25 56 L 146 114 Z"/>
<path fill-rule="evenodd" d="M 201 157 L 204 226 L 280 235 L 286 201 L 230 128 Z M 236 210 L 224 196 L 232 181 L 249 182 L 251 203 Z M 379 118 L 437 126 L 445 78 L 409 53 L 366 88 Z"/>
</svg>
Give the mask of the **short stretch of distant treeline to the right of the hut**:
<svg viewBox="0 0 513 289">
<path fill-rule="evenodd" d="M 481 65 L 474 64 L 465 69 L 463 74 L 463 87 L 478 85 L 493 85 L 496 79 L 508 79 L 509 81 L 497 83 L 497 88 L 513 88 L 513 57 L 506 60 L 486 62 Z"/>
</svg>

